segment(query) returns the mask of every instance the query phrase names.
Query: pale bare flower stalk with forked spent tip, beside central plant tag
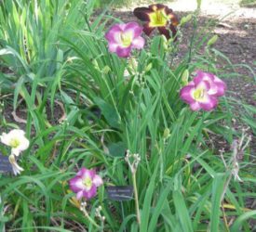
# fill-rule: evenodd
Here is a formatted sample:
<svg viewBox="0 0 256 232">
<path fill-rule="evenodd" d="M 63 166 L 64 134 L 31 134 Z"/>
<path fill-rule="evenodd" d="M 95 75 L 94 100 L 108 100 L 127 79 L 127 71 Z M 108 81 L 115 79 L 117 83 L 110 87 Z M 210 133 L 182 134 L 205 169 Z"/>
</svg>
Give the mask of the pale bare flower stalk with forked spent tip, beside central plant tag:
<svg viewBox="0 0 256 232">
<path fill-rule="evenodd" d="M 141 161 L 141 157 L 139 154 L 130 154 L 129 150 L 127 150 L 127 155 L 125 160 L 127 161 L 130 172 L 132 174 L 132 185 L 134 189 L 134 200 L 135 200 L 137 222 L 139 226 L 141 226 L 141 214 L 140 214 L 140 207 L 139 207 L 138 189 L 137 189 L 137 183 L 136 183 L 136 171 L 138 169 L 139 162 Z M 133 160 L 133 161 L 130 161 L 130 160 Z"/>
</svg>

